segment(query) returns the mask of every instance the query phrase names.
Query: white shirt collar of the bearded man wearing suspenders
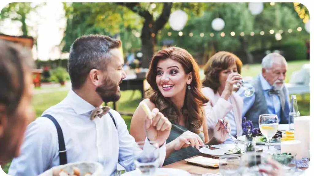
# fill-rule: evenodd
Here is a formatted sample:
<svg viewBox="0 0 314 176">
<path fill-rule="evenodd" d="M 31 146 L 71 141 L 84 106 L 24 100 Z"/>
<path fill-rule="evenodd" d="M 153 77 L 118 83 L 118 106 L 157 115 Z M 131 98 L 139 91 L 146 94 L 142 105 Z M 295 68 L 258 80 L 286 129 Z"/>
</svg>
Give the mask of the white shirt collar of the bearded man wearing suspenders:
<svg viewBox="0 0 314 176">
<path fill-rule="evenodd" d="M 69 91 L 66 101 L 78 115 L 93 111 L 95 109 L 95 106 L 91 105 L 89 102 L 78 96 L 72 89 Z"/>
</svg>

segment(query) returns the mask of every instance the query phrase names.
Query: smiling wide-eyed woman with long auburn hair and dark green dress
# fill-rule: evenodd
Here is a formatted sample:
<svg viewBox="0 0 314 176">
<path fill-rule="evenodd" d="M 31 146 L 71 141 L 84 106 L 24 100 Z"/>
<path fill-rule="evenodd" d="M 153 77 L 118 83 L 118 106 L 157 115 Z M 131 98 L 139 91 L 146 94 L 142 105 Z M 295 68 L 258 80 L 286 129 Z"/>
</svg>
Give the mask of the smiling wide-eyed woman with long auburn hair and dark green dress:
<svg viewBox="0 0 314 176">
<path fill-rule="evenodd" d="M 150 63 L 147 82 L 152 88 L 143 101 L 150 109 L 158 108 L 158 114 L 172 123 L 164 165 L 199 155 L 204 143 L 220 144 L 228 137 L 225 119 L 207 128 L 203 106 L 208 99 L 201 92 L 198 65 L 187 50 L 169 47 L 158 51 Z M 130 127 L 136 141 L 145 139 L 145 118 L 142 107 L 138 106 Z M 159 124 L 158 119 L 153 123 Z"/>
</svg>

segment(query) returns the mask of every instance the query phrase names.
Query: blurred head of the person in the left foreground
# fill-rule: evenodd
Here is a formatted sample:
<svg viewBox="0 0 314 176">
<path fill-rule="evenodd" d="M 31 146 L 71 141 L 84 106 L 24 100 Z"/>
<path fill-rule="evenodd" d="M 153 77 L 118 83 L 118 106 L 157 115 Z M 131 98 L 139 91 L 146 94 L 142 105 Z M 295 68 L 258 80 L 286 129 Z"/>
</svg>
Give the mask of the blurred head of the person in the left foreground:
<svg viewBox="0 0 314 176">
<path fill-rule="evenodd" d="M 0 163 L 19 156 L 26 126 L 34 119 L 31 106 L 34 66 L 29 49 L 0 39 Z"/>
</svg>

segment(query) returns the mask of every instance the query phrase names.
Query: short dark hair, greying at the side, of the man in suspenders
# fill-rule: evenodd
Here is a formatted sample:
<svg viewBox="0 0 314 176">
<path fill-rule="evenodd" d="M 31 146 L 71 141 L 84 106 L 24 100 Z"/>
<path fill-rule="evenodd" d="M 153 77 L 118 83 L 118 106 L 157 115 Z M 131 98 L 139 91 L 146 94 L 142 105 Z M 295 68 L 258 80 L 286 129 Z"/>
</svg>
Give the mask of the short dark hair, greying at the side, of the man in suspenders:
<svg viewBox="0 0 314 176">
<path fill-rule="evenodd" d="M 68 72 L 72 88 L 79 89 L 92 69 L 106 70 L 111 49 L 121 47 L 121 41 L 105 35 L 83 35 L 70 48 Z"/>
</svg>

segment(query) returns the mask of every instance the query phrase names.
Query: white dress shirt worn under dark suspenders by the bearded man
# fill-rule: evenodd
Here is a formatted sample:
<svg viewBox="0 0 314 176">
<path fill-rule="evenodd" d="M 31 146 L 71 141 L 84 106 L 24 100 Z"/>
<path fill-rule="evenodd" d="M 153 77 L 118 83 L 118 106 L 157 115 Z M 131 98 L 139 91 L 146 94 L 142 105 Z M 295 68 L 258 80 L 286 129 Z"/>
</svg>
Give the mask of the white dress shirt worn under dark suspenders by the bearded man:
<svg viewBox="0 0 314 176">
<path fill-rule="evenodd" d="M 48 108 L 42 115 L 50 114 L 60 124 L 68 163 L 99 162 L 104 166 L 104 175 L 113 174 L 117 163 L 127 171 L 134 170 L 133 153 L 142 150 L 129 134 L 121 115 L 110 110 L 116 121 L 116 129 L 109 114 L 91 121 L 89 116 L 94 109 L 94 106 L 70 90 L 65 99 Z M 24 135 L 20 156 L 13 159 L 9 175 L 39 175 L 59 165 L 57 129 L 50 119 L 37 118 L 27 126 Z M 148 149 L 152 147 L 146 146 Z M 165 154 L 164 144 L 160 147 L 160 166 L 164 163 Z"/>
</svg>

